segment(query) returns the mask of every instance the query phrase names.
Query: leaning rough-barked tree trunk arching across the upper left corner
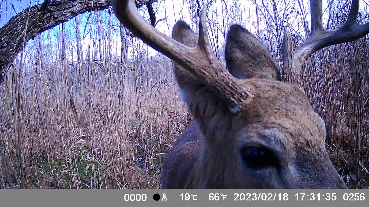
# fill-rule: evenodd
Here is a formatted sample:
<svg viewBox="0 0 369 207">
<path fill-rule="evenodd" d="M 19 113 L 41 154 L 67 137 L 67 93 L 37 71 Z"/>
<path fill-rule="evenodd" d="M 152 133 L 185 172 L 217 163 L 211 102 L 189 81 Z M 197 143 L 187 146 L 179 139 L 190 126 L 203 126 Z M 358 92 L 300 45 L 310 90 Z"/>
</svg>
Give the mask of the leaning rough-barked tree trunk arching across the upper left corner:
<svg viewBox="0 0 369 207">
<path fill-rule="evenodd" d="M 155 1 L 155 0 L 154 0 Z M 138 7 L 152 0 L 135 0 Z M 47 29 L 68 21 L 87 11 L 104 10 L 111 4 L 110 0 L 53 0 L 38 4 L 18 13 L 0 29 L 0 83 L 25 42 Z M 28 22 L 27 30 L 25 30 Z"/>
</svg>

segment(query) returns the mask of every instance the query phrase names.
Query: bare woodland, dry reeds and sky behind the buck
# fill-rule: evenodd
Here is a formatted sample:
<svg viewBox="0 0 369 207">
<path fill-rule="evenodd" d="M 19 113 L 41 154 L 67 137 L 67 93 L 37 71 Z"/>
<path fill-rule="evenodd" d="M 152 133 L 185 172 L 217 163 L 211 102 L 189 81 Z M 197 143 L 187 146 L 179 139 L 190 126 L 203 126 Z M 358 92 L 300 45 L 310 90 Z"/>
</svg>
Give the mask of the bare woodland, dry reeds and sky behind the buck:
<svg viewBox="0 0 369 207">
<path fill-rule="evenodd" d="M 0 0 L 0 27 L 41 3 Z M 350 4 L 323 1 L 324 26 L 341 27 Z M 360 4 L 358 19 L 366 23 L 369 1 Z M 203 5 L 157 0 L 139 11 L 170 36 L 179 19 L 198 31 Z M 279 67 L 283 28 L 295 47 L 310 34 L 304 0 L 213 0 L 209 10 L 211 46 L 223 64 L 231 24 L 260 38 Z M 368 38 L 315 52 L 302 72 L 303 89 L 327 124 L 331 160 L 351 188 L 369 187 Z M 111 7 L 80 14 L 28 41 L 4 76 L 0 188 L 161 187 L 162 164 L 191 121 L 167 57 L 122 27 Z"/>
</svg>

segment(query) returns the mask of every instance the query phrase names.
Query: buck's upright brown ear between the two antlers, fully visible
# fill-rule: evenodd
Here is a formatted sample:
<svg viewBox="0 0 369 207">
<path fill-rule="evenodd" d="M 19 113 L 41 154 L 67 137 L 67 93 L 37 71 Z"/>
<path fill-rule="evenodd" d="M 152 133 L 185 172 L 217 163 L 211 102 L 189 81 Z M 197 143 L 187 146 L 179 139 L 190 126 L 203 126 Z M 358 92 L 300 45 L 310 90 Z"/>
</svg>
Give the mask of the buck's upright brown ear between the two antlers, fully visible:
<svg viewBox="0 0 369 207">
<path fill-rule="evenodd" d="M 280 80 L 280 72 L 269 51 L 241 25 L 234 24 L 228 31 L 225 61 L 228 70 L 236 78 Z"/>
</svg>

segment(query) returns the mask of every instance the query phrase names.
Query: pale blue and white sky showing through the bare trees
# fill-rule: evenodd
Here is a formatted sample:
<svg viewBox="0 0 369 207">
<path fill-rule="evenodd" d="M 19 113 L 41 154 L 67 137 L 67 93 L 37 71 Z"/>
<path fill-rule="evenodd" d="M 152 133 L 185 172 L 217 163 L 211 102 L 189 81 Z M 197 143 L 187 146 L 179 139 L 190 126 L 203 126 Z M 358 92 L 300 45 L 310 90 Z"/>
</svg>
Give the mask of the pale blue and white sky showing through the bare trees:
<svg viewBox="0 0 369 207">
<path fill-rule="evenodd" d="M 7 21 L 13 17 L 14 15 L 16 15 L 16 13 L 19 13 L 21 11 L 23 11 L 25 8 L 28 8 L 30 5 L 33 6 L 37 3 L 42 3 L 44 0 L 0 0 L 0 14 L 1 14 L 1 20 L 0 20 L 0 27 L 2 27 L 3 25 L 5 25 L 7 23 Z M 290 1 L 290 0 L 286 0 Z M 304 2 L 304 4 L 307 6 L 308 5 L 308 1 L 307 0 L 302 0 Z M 342 1 L 346 1 L 346 0 L 342 0 Z M 361 10 L 365 9 L 366 11 L 368 11 L 368 1 L 369 0 L 361 0 L 360 4 L 361 4 Z M 158 24 L 158 26 L 156 27 L 160 32 L 163 32 L 166 35 L 169 35 L 171 33 L 172 30 L 172 26 L 175 24 L 175 22 L 179 19 L 184 19 L 186 22 L 192 22 L 192 18 L 191 18 L 191 14 L 190 14 L 190 10 L 189 10 L 189 3 L 188 0 L 159 0 L 159 3 L 155 3 L 154 4 L 154 10 L 157 10 L 156 13 L 156 19 L 162 19 L 166 17 L 166 21 L 165 22 L 161 22 Z M 210 20 L 212 19 L 217 19 L 219 23 L 219 25 L 222 23 L 222 18 L 219 14 L 219 11 L 222 11 L 222 2 L 225 2 L 227 4 L 227 9 L 231 10 L 232 6 L 234 4 L 238 4 L 240 6 L 242 6 L 242 11 L 244 13 L 244 17 L 247 19 L 243 19 L 243 20 L 237 20 L 237 19 L 231 19 L 230 21 L 232 21 L 231 23 L 241 23 L 244 22 L 244 26 L 245 28 L 249 29 L 251 32 L 253 32 L 255 34 L 256 31 L 256 25 L 255 25 L 255 21 L 256 21 L 256 15 L 255 15 L 255 6 L 254 6 L 254 0 L 251 1 L 247 1 L 247 0 L 213 0 L 211 3 L 211 10 L 218 11 L 218 17 L 216 16 L 217 14 L 214 13 L 208 13 L 208 18 Z M 251 3 L 250 3 L 251 2 Z M 14 5 L 14 9 L 11 6 L 11 4 Z M 250 8 L 249 8 L 250 5 Z M 296 5 L 296 4 L 295 4 Z M 7 7 L 7 8 L 6 8 Z M 295 6 L 297 7 L 297 5 Z M 164 10 L 164 8 L 166 8 L 166 10 Z M 325 8 L 327 8 L 327 1 L 323 0 L 323 11 L 326 11 Z M 15 10 L 15 11 L 14 11 Z M 148 15 L 147 15 L 147 10 L 144 7 L 142 7 L 140 9 L 141 14 L 144 15 L 146 17 L 146 19 L 148 19 Z M 107 30 L 107 17 L 108 17 L 108 11 L 105 10 L 103 12 L 100 13 L 101 17 L 103 19 L 103 27 L 104 29 Z M 215 15 L 215 17 L 214 17 Z M 327 16 L 327 12 L 324 13 L 325 16 Z M 84 13 L 82 15 L 79 15 L 79 17 L 81 18 L 81 26 L 80 26 L 80 33 L 81 35 L 85 34 L 84 36 L 84 41 L 83 41 L 83 50 L 86 52 L 86 47 L 90 42 L 90 25 L 87 25 L 86 30 L 85 30 L 85 26 L 87 23 L 87 17 L 89 16 L 89 13 Z M 114 15 L 113 15 L 114 16 Z M 91 20 L 93 20 L 94 15 L 92 15 Z M 229 18 L 229 17 L 227 17 Z M 236 22 L 239 21 L 239 22 Z M 324 18 L 324 21 L 327 21 L 327 18 Z M 307 22 L 310 22 L 310 15 L 308 15 L 307 17 Z M 90 22 L 89 22 L 90 23 Z M 292 24 L 295 24 L 295 22 L 290 22 Z M 116 29 L 115 32 L 113 32 L 113 52 L 116 52 L 117 55 L 119 55 L 120 53 L 120 36 L 119 33 L 117 32 L 118 29 L 118 21 L 115 17 L 113 17 L 113 21 L 112 21 L 112 25 L 113 25 L 113 29 Z M 193 24 L 191 25 L 192 28 L 196 28 L 196 25 Z M 69 20 L 68 22 L 65 22 L 65 28 L 66 28 L 66 33 L 69 36 L 70 40 L 72 41 L 71 44 L 75 45 L 75 43 L 73 43 L 73 39 L 75 39 L 75 31 L 74 31 L 74 27 L 75 27 L 75 19 L 73 18 L 72 20 Z M 220 26 L 221 27 L 221 26 Z M 261 27 L 265 27 L 265 25 L 261 25 Z M 92 32 L 94 32 L 95 29 L 95 24 L 92 25 Z M 196 29 L 194 29 L 196 30 Z M 49 31 L 46 31 L 44 33 L 46 34 L 50 34 L 51 37 L 51 41 L 55 42 L 55 44 L 57 43 L 57 38 L 60 35 L 60 31 L 61 31 L 61 26 L 57 26 L 54 27 L 52 29 L 50 29 Z M 216 34 L 217 36 L 217 40 L 218 42 L 221 44 L 224 42 L 224 36 L 223 34 L 220 34 L 219 31 L 215 31 L 218 32 L 218 34 Z M 46 35 L 44 35 L 46 36 Z M 31 45 L 32 41 L 28 42 L 28 45 Z M 154 54 L 156 53 L 154 50 L 149 50 L 150 53 Z M 72 59 L 75 59 L 73 57 L 73 54 L 71 55 Z"/>
</svg>

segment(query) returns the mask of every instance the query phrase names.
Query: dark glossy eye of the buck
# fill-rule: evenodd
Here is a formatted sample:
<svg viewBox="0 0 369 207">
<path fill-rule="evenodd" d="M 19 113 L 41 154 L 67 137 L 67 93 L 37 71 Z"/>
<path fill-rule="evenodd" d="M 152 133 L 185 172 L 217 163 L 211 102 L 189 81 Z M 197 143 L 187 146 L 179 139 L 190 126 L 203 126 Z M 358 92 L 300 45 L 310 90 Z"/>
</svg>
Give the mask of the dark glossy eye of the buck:
<svg viewBox="0 0 369 207">
<path fill-rule="evenodd" d="M 279 163 L 276 155 L 264 147 L 244 147 L 241 149 L 241 156 L 245 165 L 254 169 L 276 166 Z"/>
</svg>

